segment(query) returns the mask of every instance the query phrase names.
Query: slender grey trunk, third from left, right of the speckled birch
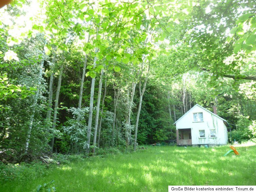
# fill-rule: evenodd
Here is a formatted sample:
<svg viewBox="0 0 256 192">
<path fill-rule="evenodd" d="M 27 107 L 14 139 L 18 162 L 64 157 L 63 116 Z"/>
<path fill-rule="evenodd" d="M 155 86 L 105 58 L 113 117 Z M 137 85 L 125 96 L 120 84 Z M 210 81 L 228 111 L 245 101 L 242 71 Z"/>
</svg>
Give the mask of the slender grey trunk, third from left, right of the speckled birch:
<svg viewBox="0 0 256 192">
<path fill-rule="evenodd" d="M 57 86 L 57 91 L 56 91 L 56 96 L 55 96 L 55 102 L 54 102 L 54 110 L 53 110 L 53 121 L 52 121 L 52 130 L 56 129 L 56 122 L 57 122 L 57 112 L 58 112 L 58 104 L 59 104 L 59 96 L 60 96 L 60 87 L 61 87 L 61 78 L 62 78 L 62 73 L 63 73 L 63 66 L 64 66 L 64 52 L 62 52 L 61 56 L 61 66 L 60 66 L 60 74 L 58 78 L 58 86 Z M 54 144 L 54 133 L 52 135 L 52 140 L 51 140 L 51 151 L 53 151 L 53 144 Z"/>
</svg>

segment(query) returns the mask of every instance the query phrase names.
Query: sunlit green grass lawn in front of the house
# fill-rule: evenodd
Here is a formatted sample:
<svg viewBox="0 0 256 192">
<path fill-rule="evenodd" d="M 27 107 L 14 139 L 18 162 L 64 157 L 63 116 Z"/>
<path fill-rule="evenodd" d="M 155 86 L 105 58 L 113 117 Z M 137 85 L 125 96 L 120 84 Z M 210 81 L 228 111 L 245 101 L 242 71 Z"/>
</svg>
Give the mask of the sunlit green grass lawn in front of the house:
<svg viewBox="0 0 256 192">
<path fill-rule="evenodd" d="M 93 157 L 56 167 L 40 178 L 24 178 L 0 191 L 33 191 L 55 180 L 57 191 L 167 191 L 168 185 L 256 185 L 256 146 L 148 147 L 131 154 Z"/>
</svg>

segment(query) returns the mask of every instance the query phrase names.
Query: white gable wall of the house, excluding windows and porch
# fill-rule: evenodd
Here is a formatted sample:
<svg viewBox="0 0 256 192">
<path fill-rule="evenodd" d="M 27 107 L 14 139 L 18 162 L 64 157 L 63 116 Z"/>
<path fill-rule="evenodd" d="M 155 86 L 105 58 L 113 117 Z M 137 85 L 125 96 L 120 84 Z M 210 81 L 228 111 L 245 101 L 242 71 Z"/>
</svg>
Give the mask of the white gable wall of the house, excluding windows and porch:
<svg viewBox="0 0 256 192">
<path fill-rule="evenodd" d="M 203 113 L 203 122 L 194 122 L 193 113 Z M 228 131 L 219 117 L 196 105 L 176 122 L 176 129 L 191 129 L 192 145 L 196 144 L 227 144 Z M 210 130 L 215 129 L 216 137 L 211 138 Z M 204 130 L 205 138 L 200 138 L 199 130 Z"/>
</svg>

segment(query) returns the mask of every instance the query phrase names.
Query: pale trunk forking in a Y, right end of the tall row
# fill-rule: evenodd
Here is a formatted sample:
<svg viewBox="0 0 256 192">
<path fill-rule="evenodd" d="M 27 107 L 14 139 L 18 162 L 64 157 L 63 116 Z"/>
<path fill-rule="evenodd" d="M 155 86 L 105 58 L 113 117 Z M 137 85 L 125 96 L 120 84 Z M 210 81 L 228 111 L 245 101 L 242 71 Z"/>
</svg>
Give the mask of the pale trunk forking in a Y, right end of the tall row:
<svg viewBox="0 0 256 192">
<path fill-rule="evenodd" d="M 136 116 L 136 124 L 135 124 L 135 133 L 134 133 L 134 145 L 133 145 L 133 150 L 136 151 L 136 147 L 137 147 L 137 133 L 138 133 L 138 124 L 139 124 L 139 118 L 140 118 L 140 109 L 141 109 L 141 104 L 142 104 L 142 97 L 143 94 L 146 90 L 146 85 L 147 85 L 147 81 L 148 81 L 148 75 L 149 75 L 149 70 L 150 70 L 150 62 L 148 63 L 148 71 L 147 71 L 147 75 L 143 84 L 143 89 L 141 91 L 141 78 L 142 78 L 142 73 L 143 73 L 143 64 L 141 63 L 141 75 L 140 75 L 140 85 L 139 85 L 139 91 L 140 91 L 140 100 L 139 100 L 139 107 L 138 107 L 138 112 L 137 112 L 137 116 Z"/>
</svg>

